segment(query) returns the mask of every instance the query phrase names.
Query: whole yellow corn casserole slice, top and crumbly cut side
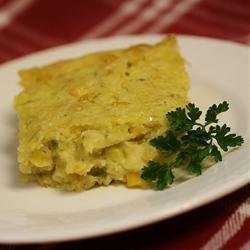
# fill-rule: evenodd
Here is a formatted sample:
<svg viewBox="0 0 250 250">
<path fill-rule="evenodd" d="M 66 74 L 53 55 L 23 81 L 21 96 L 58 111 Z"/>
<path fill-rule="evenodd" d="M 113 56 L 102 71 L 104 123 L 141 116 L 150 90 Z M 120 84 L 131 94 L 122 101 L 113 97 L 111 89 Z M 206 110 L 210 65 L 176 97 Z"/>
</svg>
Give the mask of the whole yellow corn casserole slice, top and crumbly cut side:
<svg viewBox="0 0 250 250">
<path fill-rule="evenodd" d="M 19 170 L 42 186 L 80 191 L 112 181 L 145 186 L 148 140 L 187 104 L 176 39 L 89 54 L 19 72 Z"/>
</svg>

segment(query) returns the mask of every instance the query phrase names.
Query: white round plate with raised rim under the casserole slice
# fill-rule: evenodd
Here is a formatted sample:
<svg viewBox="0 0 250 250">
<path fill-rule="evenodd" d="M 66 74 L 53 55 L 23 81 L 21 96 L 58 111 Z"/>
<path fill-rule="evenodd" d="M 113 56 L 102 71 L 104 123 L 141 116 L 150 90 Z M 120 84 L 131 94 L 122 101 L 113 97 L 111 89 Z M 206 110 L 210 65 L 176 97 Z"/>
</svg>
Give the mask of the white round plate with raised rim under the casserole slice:
<svg viewBox="0 0 250 250">
<path fill-rule="evenodd" d="M 219 40 L 180 36 L 183 55 L 192 66 L 191 100 L 203 109 L 227 100 L 223 117 L 246 139 L 203 175 L 162 192 L 110 186 L 82 193 L 62 193 L 16 180 L 16 128 L 12 101 L 20 91 L 17 71 L 58 59 L 153 43 L 160 36 L 126 36 L 83 41 L 0 67 L 0 242 L 31 243 L 85 239 L 110 234 L 186 212 L 249 182 L 249 48 Z"/>
</svg>

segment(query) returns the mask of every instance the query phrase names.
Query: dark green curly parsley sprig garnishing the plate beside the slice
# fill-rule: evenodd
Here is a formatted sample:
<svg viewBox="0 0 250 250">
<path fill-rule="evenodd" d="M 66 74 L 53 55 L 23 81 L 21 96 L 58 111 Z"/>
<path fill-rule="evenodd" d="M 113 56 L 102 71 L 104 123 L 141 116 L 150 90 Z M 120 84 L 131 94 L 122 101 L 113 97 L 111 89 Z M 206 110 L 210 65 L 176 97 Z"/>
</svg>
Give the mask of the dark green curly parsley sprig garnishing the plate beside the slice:
<svg viewBox="0 0 250 250">
<path fill-rule="evenodd" d="M 190 173 L 200 175 L 205 158 L 210 156 L 215 162 L 222 161 L 219 148 L 228 151 L 244 142 L 241 136 L 229 133 L 230 127 L 226 124 L 218 125 L 218 115 L 228 109 L 226 101 L 212 105 L 206 112 L 204 124 L 199 122 L 202 111 L 192 103 L 168 112 L 170 130 L 150 141 L 164 160 L 148 162 L 141 177 L 163 190 L 173 183 L 174 168 L 185 166 Z"/>
</svg>

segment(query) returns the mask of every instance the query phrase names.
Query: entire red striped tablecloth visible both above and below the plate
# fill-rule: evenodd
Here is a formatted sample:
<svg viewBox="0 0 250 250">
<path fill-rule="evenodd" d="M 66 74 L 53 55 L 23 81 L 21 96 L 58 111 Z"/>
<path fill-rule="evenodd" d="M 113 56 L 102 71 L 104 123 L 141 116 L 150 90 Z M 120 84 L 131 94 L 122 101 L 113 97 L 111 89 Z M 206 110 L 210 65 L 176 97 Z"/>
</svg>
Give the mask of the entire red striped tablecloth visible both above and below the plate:
<svg viewBox="0 0 250 250">
<path fill-rule="evenodd" d="M 73 41 L 180 33 L 250 44 L 249 0 L 0 0 L 0 63 Z M 179 217 L 95 240 L 0 249 L 250 249 L 250 185 Z"/>
</svg>

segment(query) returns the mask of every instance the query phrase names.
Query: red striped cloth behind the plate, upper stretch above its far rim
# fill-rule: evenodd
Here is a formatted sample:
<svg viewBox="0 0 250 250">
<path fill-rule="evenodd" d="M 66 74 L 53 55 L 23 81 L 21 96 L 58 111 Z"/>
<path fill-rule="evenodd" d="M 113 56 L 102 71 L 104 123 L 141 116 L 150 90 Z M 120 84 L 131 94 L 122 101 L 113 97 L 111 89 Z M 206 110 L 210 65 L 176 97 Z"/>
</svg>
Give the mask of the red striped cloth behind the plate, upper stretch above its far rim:
<svg viewBox="0 0 250 250">
<path fill-rule="evenodd" d="M 0 0 L 0 62 L 79 39 L 182 33 L 250 44 L 249 0 Z"/>
</svg>

